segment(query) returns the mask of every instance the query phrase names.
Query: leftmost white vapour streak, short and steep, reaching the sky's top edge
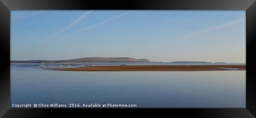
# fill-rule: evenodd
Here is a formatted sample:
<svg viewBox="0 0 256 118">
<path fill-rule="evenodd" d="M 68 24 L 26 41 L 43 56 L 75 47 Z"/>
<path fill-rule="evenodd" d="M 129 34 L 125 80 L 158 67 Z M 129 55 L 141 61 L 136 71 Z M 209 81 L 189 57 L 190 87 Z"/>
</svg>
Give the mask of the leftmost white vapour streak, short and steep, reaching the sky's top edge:
<svg viewBox="0 0 256 118">
<path fill-rule="evenodd" d="M 80 21 L 82 21 L 84 18 L 86 18 L 92 11 L 88 11 L 86 13 L 83 13 L 82 15 L 80 15 L 78 18 L 76 18 L 74 21 L 72 21 L 71 23 L 69 23 L 69 25 L 67 25 L 66 27 L 64 27 L 63 29 L 59 30 L 57 33 L 61 33 L 65 30 L 70 29 L 71 27 L 73 27 L 74 25 L 78 24 Z"/>
</svg>

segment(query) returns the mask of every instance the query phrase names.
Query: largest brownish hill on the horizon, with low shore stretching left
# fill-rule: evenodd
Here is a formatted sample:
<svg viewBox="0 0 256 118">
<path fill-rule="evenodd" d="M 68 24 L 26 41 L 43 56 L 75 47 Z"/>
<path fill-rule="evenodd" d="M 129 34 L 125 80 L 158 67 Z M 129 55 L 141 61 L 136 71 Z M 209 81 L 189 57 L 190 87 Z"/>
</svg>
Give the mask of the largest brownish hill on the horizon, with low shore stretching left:
<svg viewBox="0 0 256 118">
<path fill-rule="evenodd" d="M 84 57 L 70 60 L 29 60 L 11 61 L 11 63 L 150 63 L 148 59 L 134 59 L 131 57 Z"/>
</svg>

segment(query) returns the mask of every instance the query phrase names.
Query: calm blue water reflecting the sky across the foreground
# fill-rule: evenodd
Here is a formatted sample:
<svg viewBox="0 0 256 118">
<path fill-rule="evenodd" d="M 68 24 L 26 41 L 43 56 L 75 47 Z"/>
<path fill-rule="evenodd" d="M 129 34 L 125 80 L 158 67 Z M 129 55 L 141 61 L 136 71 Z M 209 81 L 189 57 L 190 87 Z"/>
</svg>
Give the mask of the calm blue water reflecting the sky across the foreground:
<svg viewBox="0 0 256 118">
<path fill-rule="evenodd" d="M 11 104 L 245 107 L 246 71 L 68 72 L 40 65 L 11 64 Z"/>
</svg>

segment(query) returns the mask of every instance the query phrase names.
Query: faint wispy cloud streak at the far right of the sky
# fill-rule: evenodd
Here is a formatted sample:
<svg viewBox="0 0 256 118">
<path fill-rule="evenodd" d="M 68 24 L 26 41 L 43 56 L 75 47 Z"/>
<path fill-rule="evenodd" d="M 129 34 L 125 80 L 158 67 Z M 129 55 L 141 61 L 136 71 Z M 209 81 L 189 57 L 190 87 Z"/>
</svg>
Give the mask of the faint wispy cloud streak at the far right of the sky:
<svg viewBox="0 0 256 118">
<path fill-rule="evenodd" d="M 178 36 L 176 38 L 188 38 L 190 36 L 195 36 L 195 35 L 200 35 L 200 34 L 204 34 L 204 33 L 207 33 L 207 32 L 210 32 L 212 30 L 216 30 L 216 29 L 220 29 L 220 28 L 223 28 L 223 27 L 228 27 L 230 25 L 235 25 L 237 23 L 241 23 L 245 21 L 245 19 L 238 19 L 238 20 L 234 20 L 234 21 L 230 21 L 228 23 L 224 23 L 224 24 L 221 24 L 221 25 L 217 25 L 217 26 L 213 26 L 213 27 L 209 27 L 209 28 L 206 28 L 206 29 L 202 29 L 202 30 L 199 30 L 197 32 L 193 32 L 193 33 L 190 33 L 190 34 L 186 34 L 186 35 L 182 35 L 182 36 Z"/>
</svg>

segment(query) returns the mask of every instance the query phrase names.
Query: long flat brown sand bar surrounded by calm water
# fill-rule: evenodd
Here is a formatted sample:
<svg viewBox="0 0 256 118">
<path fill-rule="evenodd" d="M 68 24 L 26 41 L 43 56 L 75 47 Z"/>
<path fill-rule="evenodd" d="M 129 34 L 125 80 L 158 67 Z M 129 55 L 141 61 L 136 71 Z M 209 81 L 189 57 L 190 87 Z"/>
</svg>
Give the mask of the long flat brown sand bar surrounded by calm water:
<svg viewBox="0 0 256 118">
<path fill-rule="evenodd" d="M 246 65 L 120 65 L 83 66 L 82 68 L 46 68 L 62 71 L 213 71 L 246 70 Z"/>
</svg>

